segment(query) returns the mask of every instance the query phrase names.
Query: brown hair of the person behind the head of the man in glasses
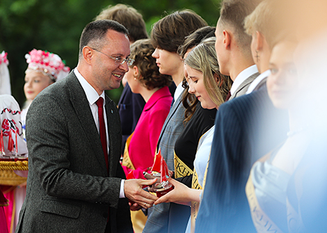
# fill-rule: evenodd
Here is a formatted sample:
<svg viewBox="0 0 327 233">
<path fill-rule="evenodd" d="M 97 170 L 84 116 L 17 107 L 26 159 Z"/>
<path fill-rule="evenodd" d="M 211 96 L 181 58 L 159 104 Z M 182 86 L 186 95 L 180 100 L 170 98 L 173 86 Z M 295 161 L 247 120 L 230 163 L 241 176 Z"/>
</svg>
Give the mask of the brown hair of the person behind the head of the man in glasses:
<svg viewBox="0 0 327 233">
<path fill-rule="evenodd" d="M 95 19 L 111 19 L 122 24 L 129 31 L 128 37 L 131 42 L 149 38 L 142 15 L 131 6 L 124 4 L 109 5 Z"/>
</svg>

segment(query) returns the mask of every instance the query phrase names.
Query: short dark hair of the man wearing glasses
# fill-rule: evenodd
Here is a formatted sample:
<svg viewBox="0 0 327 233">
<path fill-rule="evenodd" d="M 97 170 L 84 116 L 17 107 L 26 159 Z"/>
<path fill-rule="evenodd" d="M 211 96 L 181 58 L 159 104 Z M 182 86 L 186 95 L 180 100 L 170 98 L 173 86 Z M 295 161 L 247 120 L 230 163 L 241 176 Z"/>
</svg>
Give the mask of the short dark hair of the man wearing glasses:
<svg viewBox="0 0 327 233">
<path fill-rule="evenodd" d="M 93 47 L 101 49 L 103 46 L 102 39 L 106 36 L 108 30 L 128 35 L 125 26 L 113 20 L 103 19 L 90 22 L 81 33 L 81 38 L 79 40 L 79 56 L 81 56 L 83 47 L 86 45 L 92 44 Z"/>
</svg>

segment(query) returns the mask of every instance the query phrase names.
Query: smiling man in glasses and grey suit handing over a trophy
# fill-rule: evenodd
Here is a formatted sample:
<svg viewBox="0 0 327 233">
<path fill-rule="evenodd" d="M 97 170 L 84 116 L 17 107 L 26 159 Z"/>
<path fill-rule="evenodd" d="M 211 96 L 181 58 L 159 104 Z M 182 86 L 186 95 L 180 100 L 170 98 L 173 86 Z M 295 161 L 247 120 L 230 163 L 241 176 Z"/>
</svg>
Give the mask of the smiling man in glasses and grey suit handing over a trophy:
<svg viewBox="0 0 327 233">
<path fill-rule="evenodd" d="M 29 177 L 16 232 L 133 232 L 127 198 L 137 203 L 131 209 L 151 207 L 157 199 L 142 189 L 154 180 L 125 180 L 118 110 L 104 94 L 120 86 L 133 62 L 127 33 L 111 20 L 88 24 L 77 68 L 31 104 L 26 121 Z M 99 98 L 104 99 L 104 148 L 95 103 Z"/>
</svg>

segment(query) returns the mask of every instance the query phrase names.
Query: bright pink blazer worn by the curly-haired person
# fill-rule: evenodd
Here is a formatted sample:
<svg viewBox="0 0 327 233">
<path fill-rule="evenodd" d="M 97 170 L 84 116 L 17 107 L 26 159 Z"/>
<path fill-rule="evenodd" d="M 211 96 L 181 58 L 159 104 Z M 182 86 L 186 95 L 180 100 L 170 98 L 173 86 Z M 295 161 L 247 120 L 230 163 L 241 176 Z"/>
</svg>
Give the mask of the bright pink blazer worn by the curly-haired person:
<svg viewBox="0 0 327 233">
<path fill-rule="evenodd" d="M 129 143 L 129 158 L 134 165 L 136 179 L 145 179 L 143 171 L 152 166 L 161 128 L 170 111 L 173 100 L 169 88 L 157 90 L 145 104 L 134 134 Z M 127 175 L 131 169 L 122 166 Z"/>
</svg>

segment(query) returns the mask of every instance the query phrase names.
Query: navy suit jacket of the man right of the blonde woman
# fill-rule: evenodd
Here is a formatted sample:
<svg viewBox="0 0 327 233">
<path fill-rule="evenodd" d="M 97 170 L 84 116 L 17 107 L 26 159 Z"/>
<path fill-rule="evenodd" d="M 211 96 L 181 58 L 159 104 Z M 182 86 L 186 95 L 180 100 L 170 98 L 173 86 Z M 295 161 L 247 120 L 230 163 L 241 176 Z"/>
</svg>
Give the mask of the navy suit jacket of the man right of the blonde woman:
<svg viewBox="0 0 327 233">
<path fill-rule="evenodd" d="M 196 232 L 255 232 L 246 181 L 253 163 L 285 140 L 287 120 L 265 85 L 220 106 Z"/>
</svg>

